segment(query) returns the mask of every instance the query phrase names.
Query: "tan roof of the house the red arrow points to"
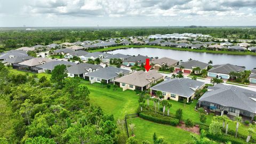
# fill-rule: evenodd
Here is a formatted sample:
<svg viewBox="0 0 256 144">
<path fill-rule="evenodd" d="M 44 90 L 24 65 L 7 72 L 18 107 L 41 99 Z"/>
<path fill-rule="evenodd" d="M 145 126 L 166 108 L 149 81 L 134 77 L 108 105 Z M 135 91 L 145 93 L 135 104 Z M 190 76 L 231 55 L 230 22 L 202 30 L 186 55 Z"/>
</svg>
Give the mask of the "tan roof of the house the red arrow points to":
<svg viewBox="0 0 256 144">
<path fill-rule="evenodd" d="M 155 70 L 150 70 L 148 72 L 140 70 L 130 75 L 115 79 L 115 82 L 143 87 L 150 84 L 151 79 L 159 79 L 161 77 L 163 77 L 163 75 L 157 73 Z"/>
</svg>

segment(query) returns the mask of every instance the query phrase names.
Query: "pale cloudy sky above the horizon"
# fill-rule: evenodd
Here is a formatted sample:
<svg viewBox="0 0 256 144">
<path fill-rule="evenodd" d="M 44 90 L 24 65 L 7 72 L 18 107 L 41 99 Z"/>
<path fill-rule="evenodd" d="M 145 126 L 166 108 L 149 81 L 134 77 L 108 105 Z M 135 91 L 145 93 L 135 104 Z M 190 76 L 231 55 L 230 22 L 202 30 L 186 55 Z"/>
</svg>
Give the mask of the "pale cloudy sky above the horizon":
<svg viewBox="0 0 256 144">
<path fill-rule="evenodd" d="M 255 26 L 256 0 L 0 0 L 0 27 Z"/>
</svg>

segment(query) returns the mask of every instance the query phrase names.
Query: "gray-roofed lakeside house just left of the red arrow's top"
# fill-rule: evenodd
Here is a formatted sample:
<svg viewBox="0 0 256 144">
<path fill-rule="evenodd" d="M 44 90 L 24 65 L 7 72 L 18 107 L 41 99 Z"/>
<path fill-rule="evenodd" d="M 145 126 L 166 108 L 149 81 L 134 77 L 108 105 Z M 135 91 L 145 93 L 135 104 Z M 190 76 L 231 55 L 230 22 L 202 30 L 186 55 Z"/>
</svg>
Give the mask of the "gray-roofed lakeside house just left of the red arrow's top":
<svg viewBox="0 0 256 144">
<path fill-rule="evenodd" d="M 149 61 L 151 61 L 152 58 L 149 58 L 147 56 L 144 55 L 137 55 L 135 57 L 130 57 L 130 58 L 126 58 L 123 60 L 123 65 L 125 66 L 134 66 L 135 63 L 138 63 L 138 66 L 141 66 L 141 64 L 145 64 L 146 63 L 146 59 L 149 59 Z"/>
</svg>

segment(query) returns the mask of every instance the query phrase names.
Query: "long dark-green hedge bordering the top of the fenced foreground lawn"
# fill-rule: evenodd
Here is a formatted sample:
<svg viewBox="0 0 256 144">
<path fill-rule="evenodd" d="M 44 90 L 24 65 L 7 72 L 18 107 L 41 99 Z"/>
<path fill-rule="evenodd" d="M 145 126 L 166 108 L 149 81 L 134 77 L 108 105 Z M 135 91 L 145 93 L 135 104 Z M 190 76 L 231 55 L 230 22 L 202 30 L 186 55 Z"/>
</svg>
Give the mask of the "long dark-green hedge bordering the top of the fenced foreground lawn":
<svg viewBox="0 0 256 144">
<path fill-rule="evenodd" d="M 146 119 L 151 122 L 159 123 L 159 124 L 169 124 L 172 126 L 177 126 L 179 124 L 179 119 L 163 116 L 160 114 L 155 114 L 153 111 L 145 111 L 139 113 L 139 116 L 143 119 Z"/>
</svg>

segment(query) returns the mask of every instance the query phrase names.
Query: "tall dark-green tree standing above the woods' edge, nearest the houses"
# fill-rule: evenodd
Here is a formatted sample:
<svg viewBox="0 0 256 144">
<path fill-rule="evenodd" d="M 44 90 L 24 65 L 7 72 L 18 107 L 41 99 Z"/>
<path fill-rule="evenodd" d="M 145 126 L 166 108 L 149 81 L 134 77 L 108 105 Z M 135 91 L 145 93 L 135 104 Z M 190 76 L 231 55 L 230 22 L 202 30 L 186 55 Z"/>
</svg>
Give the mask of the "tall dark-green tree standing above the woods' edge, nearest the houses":
<svg viewBox="0 0 256 144">
<path fill-rule="evenodd" d="M 57 88 L 61 89 L 63 87 L 64 78 L 67 76 L 68 74 L 66 65 L 55 66 L 52 70 L 51 82 L 56 83 Z"/>
</svg>

